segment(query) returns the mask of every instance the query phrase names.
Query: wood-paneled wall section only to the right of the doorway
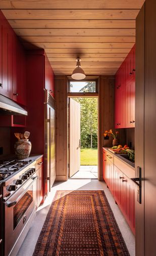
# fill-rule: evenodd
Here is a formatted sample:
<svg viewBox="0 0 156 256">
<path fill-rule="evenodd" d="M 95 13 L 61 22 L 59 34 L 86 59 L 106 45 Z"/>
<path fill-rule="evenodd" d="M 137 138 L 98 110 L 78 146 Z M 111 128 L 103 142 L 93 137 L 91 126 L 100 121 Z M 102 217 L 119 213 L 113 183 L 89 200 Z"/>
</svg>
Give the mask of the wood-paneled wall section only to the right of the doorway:
<svg viewBox="0 0 156 256">
<path fill-rule="evenodd" d="M 102 147 L 111 147 L 112 138 L 104 140 L 103 133 L 114 129 L 115 76 L 100 76 L 98 95 L 98 180 L 103 181 Z"/>
</svg>

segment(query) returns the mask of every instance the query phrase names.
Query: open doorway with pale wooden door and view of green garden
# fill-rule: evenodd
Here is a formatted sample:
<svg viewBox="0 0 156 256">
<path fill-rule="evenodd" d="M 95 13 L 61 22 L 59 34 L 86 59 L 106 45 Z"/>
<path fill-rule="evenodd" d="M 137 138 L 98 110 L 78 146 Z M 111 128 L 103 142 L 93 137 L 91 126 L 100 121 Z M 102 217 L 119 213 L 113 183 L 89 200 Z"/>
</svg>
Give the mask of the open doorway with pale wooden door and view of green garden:
<svg viewBox="0 0 156 256">
<path fill-rule="evenodd" d="M 81 84 L 84 90 L 86 85 L 82 82 L 76 83 L 79 87 Z M 70 97 L 68 127 L 68 177 L 72 179 L 97 179 L 98 98 L 84 97 L 84 95 L 83 97 Z"/>
</svg>

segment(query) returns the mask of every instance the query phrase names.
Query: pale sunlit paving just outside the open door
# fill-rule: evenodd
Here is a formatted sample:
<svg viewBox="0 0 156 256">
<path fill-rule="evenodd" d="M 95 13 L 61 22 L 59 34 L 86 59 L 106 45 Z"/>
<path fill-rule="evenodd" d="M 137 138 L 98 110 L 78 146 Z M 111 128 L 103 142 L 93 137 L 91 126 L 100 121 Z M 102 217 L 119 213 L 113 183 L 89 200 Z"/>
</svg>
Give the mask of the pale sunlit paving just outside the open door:
<svg viewBox="0 0 156 256">
<path fill-rule="evenodd" d="M 71 179 L 97 179 L 97 165 L 81 165 Z"/>
</svg>

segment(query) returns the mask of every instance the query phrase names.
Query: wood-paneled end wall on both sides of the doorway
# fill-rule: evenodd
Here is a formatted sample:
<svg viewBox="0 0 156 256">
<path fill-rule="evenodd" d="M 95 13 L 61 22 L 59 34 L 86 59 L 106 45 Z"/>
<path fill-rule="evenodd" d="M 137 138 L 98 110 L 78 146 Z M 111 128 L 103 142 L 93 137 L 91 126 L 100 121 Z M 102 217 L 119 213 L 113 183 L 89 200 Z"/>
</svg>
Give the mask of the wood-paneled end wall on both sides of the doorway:
<svg viewBox="0 0 156 256">
<path fill-rule="evenodd" d="M 114 76 L 100 76 L 98 85 L 98 180 L 102 177 L 102 147 L 112 146 L 112 139 L 104 140 L 103 133 L 114 128 Z M 57 103 L 56 149 L 57 181 L 68 179 L 68 98 L 67 77 L 55 76 Z"/>
</svg>

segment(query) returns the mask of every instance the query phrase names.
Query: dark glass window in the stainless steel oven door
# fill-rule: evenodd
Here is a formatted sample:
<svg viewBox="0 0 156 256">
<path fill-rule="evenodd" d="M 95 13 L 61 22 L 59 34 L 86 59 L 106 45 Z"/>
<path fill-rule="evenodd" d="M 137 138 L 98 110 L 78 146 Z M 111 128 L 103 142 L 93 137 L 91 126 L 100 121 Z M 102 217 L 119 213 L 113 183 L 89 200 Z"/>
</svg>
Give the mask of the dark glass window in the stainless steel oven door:
<svg viewBox="0 0 156 256">
<path fill-rule="evenodd" d="M 29 208 L 33 201 L 33 187 L 31 186 L 29 190 L 21 197 L 18 203 L 14 206 L 14 229 L 19 224 L 20 220 L 24 216 L 26 210 Z"/>
</svg>

